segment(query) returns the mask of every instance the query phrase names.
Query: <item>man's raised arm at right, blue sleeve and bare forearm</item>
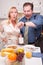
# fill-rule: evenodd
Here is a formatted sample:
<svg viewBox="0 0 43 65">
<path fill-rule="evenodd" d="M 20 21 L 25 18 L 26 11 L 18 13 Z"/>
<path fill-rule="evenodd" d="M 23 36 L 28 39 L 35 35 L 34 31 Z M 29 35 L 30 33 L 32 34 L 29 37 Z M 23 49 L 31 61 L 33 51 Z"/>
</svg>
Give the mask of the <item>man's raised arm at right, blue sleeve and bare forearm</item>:
<svg viewBox="0 0 43 65">
<path fill-rule="evenodd" d="M 37 26 L 42 25 L 42 24 L 43 24 L 43 19 L 42 19 L 41 15 L 37 15 L 35 19 L 25 23 L 25 25 L 27 25 L 29 27 L 37 27 Z"/>
</svg>

